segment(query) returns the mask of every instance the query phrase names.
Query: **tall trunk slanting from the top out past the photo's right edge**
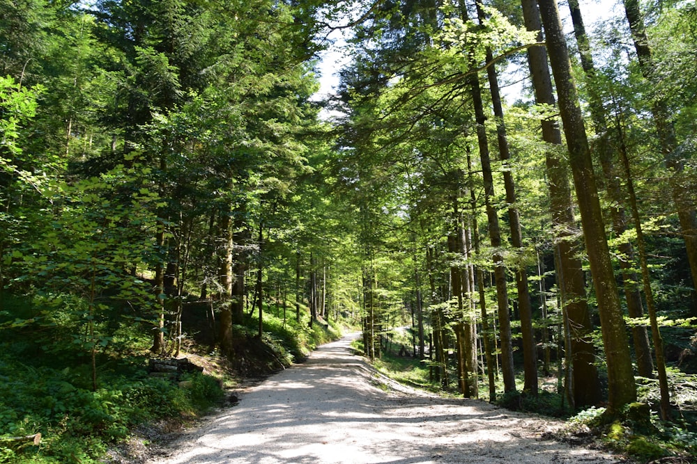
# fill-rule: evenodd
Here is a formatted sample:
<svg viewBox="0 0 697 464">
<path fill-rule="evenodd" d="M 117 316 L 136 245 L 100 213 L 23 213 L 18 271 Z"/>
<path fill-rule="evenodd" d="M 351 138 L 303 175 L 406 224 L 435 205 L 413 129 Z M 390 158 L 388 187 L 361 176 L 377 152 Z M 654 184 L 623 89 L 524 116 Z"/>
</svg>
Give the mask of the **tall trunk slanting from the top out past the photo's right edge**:
<svg viewBox="0 0 697 464">
<path fill-rule="evenodd" d="M 634 48 L 639 59 L 641 72 L 646 79 L 655 83 L 660 79 L 660 72 L 656 69 L 653 61 L 652 49 L 646 35 L 639 2 L 638 0 L 624 0 L 624 3 L 625 15 L 634 39 Z M 686 193 L 684 186 L 680 182 L 680 176 L 684 170 L 684 160 L 680 159 L 679 154 L 675 152 L 677 148 L 675 128 L 673 127 L 671 113 L 668 110 L 668 104 L 666 104 L 664 99 L 654 98 L 652 113 L 661 152 L 664 155 L 664 162 L 668 170 L 671 171 L 671 193 L 677 209 L 677 217 L 680 220 L 682 238 L 685 241 L 687 260 L 692 274 L 692 286 L 694 291 L 697 292 L 697 212 L 695 209 L 694 192 Z M 694 314 L 697 314 L 697 307 L 694 307 L 693 311 Z"/>
</svg>

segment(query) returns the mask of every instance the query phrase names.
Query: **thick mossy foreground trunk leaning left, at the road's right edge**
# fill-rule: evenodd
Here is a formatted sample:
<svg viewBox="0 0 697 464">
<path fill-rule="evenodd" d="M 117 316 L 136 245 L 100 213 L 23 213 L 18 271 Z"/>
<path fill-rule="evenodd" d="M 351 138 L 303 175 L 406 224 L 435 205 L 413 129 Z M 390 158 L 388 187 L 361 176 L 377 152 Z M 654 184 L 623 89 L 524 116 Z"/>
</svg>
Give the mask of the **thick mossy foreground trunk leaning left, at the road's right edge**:
<svg viewBox="0 0 697 464">
<path fill-rule="evenodd" d="M 617 413 L 622 406 L 636 401 L 636 385 L 631 369 L 629 345 L 622 306 L 606 239 L 602 209 L 593 173 L 588 138 L 579 106 L 566 40 L 556 0 L 538 0 L 547 53 L 556 82 L 559 111 L 569 147 L 576 198 L 588 252 L 590 271 L 597 295 L 603 342 L 608 369 L 608 410 Z M 578 373 L 576 373 L 578 375 Z"/>
</svg>

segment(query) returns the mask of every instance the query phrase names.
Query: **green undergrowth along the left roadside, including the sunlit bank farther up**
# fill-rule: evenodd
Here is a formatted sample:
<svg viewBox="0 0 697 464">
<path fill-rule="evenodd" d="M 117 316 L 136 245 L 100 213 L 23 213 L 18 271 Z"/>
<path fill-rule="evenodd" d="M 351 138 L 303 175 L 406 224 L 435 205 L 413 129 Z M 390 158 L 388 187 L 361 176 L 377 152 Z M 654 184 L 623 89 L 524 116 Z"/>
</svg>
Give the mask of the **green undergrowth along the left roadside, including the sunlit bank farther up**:
<svg viewBox="0 0 697 464">
<path fill-rule="evenodd" d="M 175 379 L 151 376 L 147 330 L 132 321 L 104 321 L 111 337 L 98 350 L 94 390 L 89 352 L 74 342 L 81 335 L 77 312 L 67 305 L 42 307 L 42 301 L 26 298 L 3 303 L 0 463 L 105 462 L 107 450 L 128 440 L 137 427 L 166 422 L 176 429 L 219 406 L 225 397 L 222 381 L 229 385 L 234 378 L 231 371 L 219 371 L 217 377 L 198 372 Z M 247 356 L 247 364 L 259 368 L 255 374 L 298 362 L 315 346 L 340 335 L 335 323 L 310 328 L 306 319 L 284 321 L 264 314 L 259 339 L 257 322 L 250 317 L 235 327 L 240 353 Z M 186 342 L 187 348 L 203 353 L 200 360 L 210 358 L 193 337 Z M 36 433 L 41 434 L 36 445 L 20 439 Z"/>
</svg>

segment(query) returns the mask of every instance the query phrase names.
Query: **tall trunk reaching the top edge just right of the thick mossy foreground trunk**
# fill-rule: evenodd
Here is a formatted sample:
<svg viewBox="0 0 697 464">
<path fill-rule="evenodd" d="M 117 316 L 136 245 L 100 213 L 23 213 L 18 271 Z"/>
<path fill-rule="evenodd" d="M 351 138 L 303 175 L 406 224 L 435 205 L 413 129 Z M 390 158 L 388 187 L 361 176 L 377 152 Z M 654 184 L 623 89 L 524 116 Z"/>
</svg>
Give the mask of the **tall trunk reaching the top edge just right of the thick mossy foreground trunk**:
<svg viewBox="0 0 697 464">
<path fill-rule="evenodd" d="M 615 235 L 621 237 L 627 230 L 627 218 L 625 209 L 622 207 L 622 189 L 620 188 L 620 176 L 613 169 L 613 149 L 608 140 L 608 125 L 605 114 L 605 109 L 601 97 L 595 90 L 595 65 L 590 51 L 590 43 L 588 35 L 585 33 L 585 25 L 583 24 L 583 16 L 579 7 L 579 0 L 569 0 L 569 10 L 574 24 L 574 35 L 579 46 L 579 54 L 581 56 L 581 66 L 585 76 L 590 81 L 588 86 L 590 97 L 590 115 L 595 126 L 595 133 L 599 136 L 595 143 L 600 166 L 602 166 L 605 177 L 605 189 L 608 198 L 611 200 L 609 208 L 613 230 Z M 629 317 L 643 317 L 643 304 L 641 303 L 641 294 L 639 293 L 636 273 L 632 270 L 634 267 L 634 250 L 629 241 L 620 243 L 620 269 L 622 270 L 622 287 L 627 300 L 627 312 Z M 653 377 L 653 362 L 651 360 L 651 349 L 649 345 L 648 332 L 644 326 L 632 326 L 632 339 L 634 340 L 634 352 L 636 353 L 636 367 L 640 376 Z"/>
</svg>

